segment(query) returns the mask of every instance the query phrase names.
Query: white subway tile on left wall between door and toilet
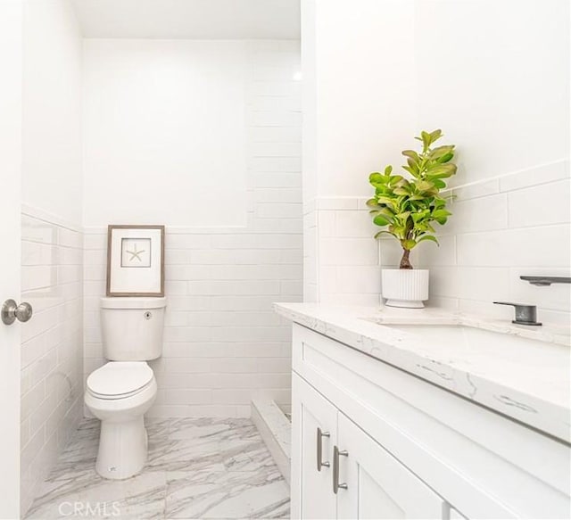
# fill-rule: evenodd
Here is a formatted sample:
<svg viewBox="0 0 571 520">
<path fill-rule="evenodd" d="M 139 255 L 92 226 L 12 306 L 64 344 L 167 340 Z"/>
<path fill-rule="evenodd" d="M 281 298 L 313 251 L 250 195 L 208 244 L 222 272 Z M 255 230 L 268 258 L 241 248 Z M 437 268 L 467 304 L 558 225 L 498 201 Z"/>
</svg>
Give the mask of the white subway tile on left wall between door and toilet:
<svg viewBox="0 0 571 520">
<path fill-rule="evenodd" d="M 21 510 L 83 417 L 83 236 L 26 207 L 21 217 Z"/>
</svg>

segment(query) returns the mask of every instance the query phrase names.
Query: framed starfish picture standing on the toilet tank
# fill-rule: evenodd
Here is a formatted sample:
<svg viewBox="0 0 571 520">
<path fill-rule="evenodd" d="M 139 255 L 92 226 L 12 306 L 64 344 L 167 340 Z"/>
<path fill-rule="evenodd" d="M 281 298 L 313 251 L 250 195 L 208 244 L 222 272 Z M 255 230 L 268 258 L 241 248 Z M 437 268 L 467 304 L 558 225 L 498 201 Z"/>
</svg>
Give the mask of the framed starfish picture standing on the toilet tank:
<svg viewBox="0 0 571 520">
<path fill-rule="evenodd" d="M 107 228 L 107 296 L 164 296 L 164 226 Z"/>
</svg>

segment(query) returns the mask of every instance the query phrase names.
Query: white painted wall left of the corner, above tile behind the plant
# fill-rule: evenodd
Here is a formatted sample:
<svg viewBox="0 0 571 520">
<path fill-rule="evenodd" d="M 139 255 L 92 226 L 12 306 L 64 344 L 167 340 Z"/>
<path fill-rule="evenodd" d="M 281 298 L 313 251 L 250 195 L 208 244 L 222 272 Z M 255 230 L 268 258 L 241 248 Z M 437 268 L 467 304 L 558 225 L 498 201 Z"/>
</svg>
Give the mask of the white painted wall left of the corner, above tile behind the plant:
<svg viewBox="0 0 571 520">
<path fill-rule="evenodd" d="M 414 134 L 413 4 L 316 4 L 317 192 L 368 194 L 368 173 L 400 161 Z"/>
</svg>

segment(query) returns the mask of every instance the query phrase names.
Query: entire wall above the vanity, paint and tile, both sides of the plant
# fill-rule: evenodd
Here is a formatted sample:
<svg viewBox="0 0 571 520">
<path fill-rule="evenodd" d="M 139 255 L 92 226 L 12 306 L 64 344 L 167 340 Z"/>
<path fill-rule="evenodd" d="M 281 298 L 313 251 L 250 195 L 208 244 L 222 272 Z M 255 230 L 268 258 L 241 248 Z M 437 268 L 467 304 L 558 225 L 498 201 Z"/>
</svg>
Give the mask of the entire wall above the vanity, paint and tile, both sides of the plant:
<svg viewBox="0 0 571 520">
<path fill-rule="evenodd" d="M 397 265 L 399 248 L 371 238 L 368 173 L 400 165 L 421 129 L 443 128 L 458 145 L 454 215 L 440 249 L 413 252 L 432 269 L 431 303 L 509 318 L 491 301 L 524 301 L 568 322 L 566 286 L 518 278 L 568 276 L 571 265 L 569 5 L 547 4 L 302 3 L 316 17 L 302 25 L 312 31 L 303 65 L 317 70 L 303 95 L 317 100 L 304 105 L 317 136 L 304 145 L 304 163 L 316 164 L 304 178 L 317 184 L 304 194 L 307 300 L 378 303 L 378 267 Z"/>
</svg>

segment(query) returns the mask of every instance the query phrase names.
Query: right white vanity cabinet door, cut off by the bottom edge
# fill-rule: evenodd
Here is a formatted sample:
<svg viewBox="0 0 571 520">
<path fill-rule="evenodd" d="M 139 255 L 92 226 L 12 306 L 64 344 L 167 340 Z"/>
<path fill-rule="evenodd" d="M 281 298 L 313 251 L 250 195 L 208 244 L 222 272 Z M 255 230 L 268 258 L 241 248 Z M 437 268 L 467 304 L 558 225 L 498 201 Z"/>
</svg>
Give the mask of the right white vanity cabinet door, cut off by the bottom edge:
<svg viewBox="0 0 571 520">
<path fill-rule="evenodd" d="M 341 412 L 337 518 L 443 518 L 445 502 Z M 335 470 L 335 467 L 334 467 Z"/>
</svg>

